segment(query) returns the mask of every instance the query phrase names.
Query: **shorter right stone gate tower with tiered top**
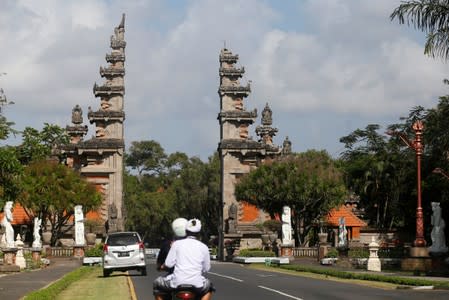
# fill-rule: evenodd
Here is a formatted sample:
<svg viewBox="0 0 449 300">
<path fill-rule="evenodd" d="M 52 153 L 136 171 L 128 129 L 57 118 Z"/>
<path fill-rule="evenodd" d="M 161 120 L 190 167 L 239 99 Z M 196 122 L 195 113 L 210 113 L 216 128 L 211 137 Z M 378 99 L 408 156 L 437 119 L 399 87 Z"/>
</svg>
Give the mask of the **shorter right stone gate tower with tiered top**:
<svg viewBox="0 0 449 300">
<path fill-rule="evenodd" d="M 239 79 L 245 73 L 244 67 L 236 67 L 238 55 L 228 49 L 220 52 L 220 143 L 218 152 L 221 160 L 221 200 L 223 210 L 219 243 L 224 239 L 238 241 L 241 247 L 251 248 L 260 241 L 257 225 L 266 220 L 266 214 L 256 207 L 238 202 L 234 187 L 239 177 L 257 168 L 265 159 L 280 154 L 280 148 L 272 142 L 277 129 L 272 128 L 272 112 L 268 104 L 262 112 L 262 125 L 256 129 L 259 140 L 249 135 L 249 126 L 257 118 L 257 110 L 246 110 L 244 99 L 251 92 L 250 84 L 242 86 Z M 219 245 L 220 251 L 223 245 Z M 219 256 L 223 257 L 223 253 Z"/>
</svg>

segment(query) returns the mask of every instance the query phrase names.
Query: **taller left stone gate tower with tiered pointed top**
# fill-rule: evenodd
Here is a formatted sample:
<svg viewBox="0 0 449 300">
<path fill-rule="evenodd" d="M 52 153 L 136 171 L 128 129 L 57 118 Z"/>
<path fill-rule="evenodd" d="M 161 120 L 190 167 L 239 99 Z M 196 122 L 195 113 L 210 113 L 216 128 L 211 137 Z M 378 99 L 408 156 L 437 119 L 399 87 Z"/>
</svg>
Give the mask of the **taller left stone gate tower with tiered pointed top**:
<svg viewBox="0 0 449 300">
<path fill-rule="evenodd" d="M 95 136 L 84 140 L 87 126 L 82 125 L 82 110 L 76 105 L 72 110 L 72 125 L 67 126 L 71 144 L 62 150 L 67 154 L 69 166 L 80 171 L 103 194 L 98 213 L 109 232 L 124 230 L 125 206 L 123 203 L 123 153 L 125 148 L 125 120 L 123 97 L 125 95 L 125 15 L 111 36 L 111 53 L 106 54 L 107 67 L 100 67 L 105 79 L 102 85 L 94 84 L 93 93 L 100 99 L 98 110 L 88 109 L 88 119 L 95 126 Z"/>
</svg>

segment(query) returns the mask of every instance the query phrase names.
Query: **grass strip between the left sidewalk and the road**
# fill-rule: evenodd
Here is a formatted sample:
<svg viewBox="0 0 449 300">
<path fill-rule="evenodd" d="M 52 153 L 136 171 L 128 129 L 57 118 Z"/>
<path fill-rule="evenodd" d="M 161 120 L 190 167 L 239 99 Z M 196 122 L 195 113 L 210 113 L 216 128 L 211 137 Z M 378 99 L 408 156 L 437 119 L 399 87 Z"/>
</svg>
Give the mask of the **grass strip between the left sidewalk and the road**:
<svg viewBox="0 0 449 300">
<path fill-rule="evenodd" d="M 126 273 L 104 278 L 100 267 L 81 267 L 25 300 L 131 299 Z"/>
</svg>

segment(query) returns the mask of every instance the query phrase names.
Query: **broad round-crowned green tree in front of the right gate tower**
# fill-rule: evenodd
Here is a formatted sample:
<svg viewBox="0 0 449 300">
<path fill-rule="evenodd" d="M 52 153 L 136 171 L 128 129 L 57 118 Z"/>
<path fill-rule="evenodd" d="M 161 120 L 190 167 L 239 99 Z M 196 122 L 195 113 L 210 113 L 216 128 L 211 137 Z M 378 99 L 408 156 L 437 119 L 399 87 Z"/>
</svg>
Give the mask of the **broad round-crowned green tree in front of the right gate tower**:
<svg viewBox="0 0 449 300">
<path fill-rule="evenodd" d="M 292 223 L 299 244 L 308 242 L 309 232 L 347 194 L 343 176 L 326 151 L 309 150 L 269 161 L 245 174 L 236 184 L 239 201 L 253 204 L 272 218 L 282 207 L 292 209 Z"/>
</svg>

